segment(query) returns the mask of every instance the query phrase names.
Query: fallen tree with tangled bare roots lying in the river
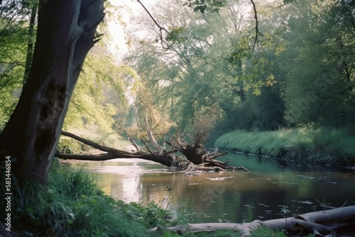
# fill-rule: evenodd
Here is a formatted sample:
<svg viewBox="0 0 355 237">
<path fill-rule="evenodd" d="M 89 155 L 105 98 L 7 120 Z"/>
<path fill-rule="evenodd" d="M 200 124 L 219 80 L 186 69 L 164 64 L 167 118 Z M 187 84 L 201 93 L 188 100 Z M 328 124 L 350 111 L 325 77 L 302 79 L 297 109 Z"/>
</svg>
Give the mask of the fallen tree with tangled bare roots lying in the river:
<svg viewBox="0 0 355 237">
<path fill-rule="evenodd" d="M 131 144 L 136 148 L 136 151 L 125 151 L 118 150 L 116 148 L 110 148 L 105 145 L 100 145 L 92 140 L 87 140 L 76 136 L 75 134 L 62 131 L 62 136 L 68 136 L 75 140 L 78 140 L 86 145 L 90 145 L 93 148 L 102 150 L 104 153 L 97 155 L 87 154 L 87 155 L 77 155 L 77 154 L 67 154 L 64 150 L 57 150 L 55 155 L 61 159 L 72 159 L 72 160 L 112 160 L 118 158 L 138 158 L 143 160 L 151 160 L 153 162 L 158 162 L 161 165 L 168 167 L 180 167 L 182 170 L 189 172 L 195 171 L 224 171 L 230 170 L 247 170 L 245 167 L 234 167 L 227 165 L 229 161 L 221 162 L 215 160 L 216 158 L 225 155 L 224 153 L 218 153 L 218 149 L 213 152 L 209 152 L 202 145 L 202 140 L 194 140 L 191 144 L 187 143 L 183 139 L 175 139 L 170 136 L 170 141 L 165 140 L 165 143 L 170 146 L 170 150 L 165 150 L 162 145 L 155 140 L 151 128 L 146 124 L 148 131 L 148 142 L 149 145 L 142 139 L 146 150 L 141 148 L 133 140 L 128 132 L 127 135 Z M 150 146 L 152 148 L 150 148 Z M 176 155 L 175 153 L 182 153 L 183 155 Z"/>
</svg>

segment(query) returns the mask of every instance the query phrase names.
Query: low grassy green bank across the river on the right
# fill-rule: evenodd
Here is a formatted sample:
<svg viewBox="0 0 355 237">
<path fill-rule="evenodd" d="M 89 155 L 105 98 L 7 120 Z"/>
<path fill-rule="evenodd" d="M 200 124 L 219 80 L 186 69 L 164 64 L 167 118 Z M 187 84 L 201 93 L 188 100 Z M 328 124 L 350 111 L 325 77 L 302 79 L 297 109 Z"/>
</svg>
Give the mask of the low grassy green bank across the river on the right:
<svg viewBox="0 0 355 237">
<path fill-rule="evenodd" d="M 343 167 L 355 165 L 355 135 L 345 129 L 239 130 L 220 136 L 214 145 L 283 160 Z"/>
</svg>

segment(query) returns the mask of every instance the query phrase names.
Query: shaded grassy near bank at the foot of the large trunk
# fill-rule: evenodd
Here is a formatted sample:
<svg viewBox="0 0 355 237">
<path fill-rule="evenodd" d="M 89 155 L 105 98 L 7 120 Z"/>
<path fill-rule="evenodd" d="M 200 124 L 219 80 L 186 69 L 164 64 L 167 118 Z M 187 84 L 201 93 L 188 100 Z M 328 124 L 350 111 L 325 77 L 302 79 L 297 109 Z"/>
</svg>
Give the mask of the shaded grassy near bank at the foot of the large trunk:
<svg viewBox="0 0 355 237">
<path fill-rule="evenodd" d="M 195 219 L 194 213 L 185 213 L 177 219 L 171 211 L 154 202 L 142 205 L 115 200 L 97 187 L 91 175 L 61 165 L 57 159 L 53 161 L 45 187 L 31 182 L 23 189 L 16 186 L 13 190 L 11 207 L 16 211 L 11 213 L 11 236 L 178 237 L 181 235 L 177 233 L 149 230 L 186 225 Z M 2 203 L 0 207 L 5 209 Z M 4 218 L 2 215 L 1 219 Z M 4 231 L 4 228 L 0 228 L 0 236 L 6 233 Z M 231 230 L 215 231 L 212 234 L 209 231 L 187 232 L 183 236 L 212 235 L 241 236 L 239 232 Z M 280 231 L 266 228 L 252 233 L 256 237 L 275 235 L 285 236 Z"/>
</svg>

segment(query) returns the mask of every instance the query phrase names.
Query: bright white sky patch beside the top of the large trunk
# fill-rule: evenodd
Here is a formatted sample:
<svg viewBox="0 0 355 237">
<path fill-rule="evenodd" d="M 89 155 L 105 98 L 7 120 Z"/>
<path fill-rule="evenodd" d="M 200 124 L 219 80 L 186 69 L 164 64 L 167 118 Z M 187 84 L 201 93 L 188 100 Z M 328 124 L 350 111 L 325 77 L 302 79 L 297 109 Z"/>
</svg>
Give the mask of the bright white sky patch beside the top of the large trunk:
<svg viewBox="0 0 355 237">
<path fill-rule="evenodd" d="M 137 14 L 144 13 L 144 9 L 137 0 L 110 0 L 111 4 L 120 7 L 120 13 L 122 20 L 126 23 L 126 29 L 129 29 L 130 23 L 129 19 Z M 141 3 L 146 6 L 148 11 L 150 11 L 156 0 L 141 0 Z M 124 26 L 116 22 L 109 22 L 109 31 L 113 42 L 109 46 L 109 50 L 116 55 L 116 57 L 122 57 L 124 53 L 127 53 L 128 48 L 126 45 Z"/>
</svg>

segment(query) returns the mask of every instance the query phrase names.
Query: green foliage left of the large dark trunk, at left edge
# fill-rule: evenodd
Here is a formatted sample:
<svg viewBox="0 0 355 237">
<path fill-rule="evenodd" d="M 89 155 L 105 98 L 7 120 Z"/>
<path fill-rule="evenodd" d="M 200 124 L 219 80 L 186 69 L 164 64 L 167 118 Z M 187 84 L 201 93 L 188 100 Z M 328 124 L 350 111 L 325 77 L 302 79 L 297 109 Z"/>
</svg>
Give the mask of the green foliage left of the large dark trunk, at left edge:
<svg viewBox="0 0 355 237">
<path fill-rule="evenodd" d="M 23 86 L 28 18 L 36 1 L 6 0 L 0 4 L 0 129 L 15 108 Z"/>
</svg>

